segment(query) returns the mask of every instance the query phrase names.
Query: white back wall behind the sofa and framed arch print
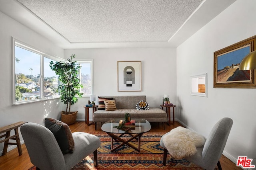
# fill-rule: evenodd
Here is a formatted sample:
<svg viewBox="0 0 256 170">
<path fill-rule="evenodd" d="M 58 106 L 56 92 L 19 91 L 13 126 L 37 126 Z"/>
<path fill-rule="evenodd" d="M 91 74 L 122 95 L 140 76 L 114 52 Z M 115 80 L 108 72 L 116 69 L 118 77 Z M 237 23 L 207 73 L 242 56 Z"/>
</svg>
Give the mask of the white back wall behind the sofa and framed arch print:
<svg viewBox="0 0 256 170">
<path fill-rule="evenodd" d="M 94 95 L 130 96 L 146 95 L 150 107 L 160 107 L 164 94 L 176 104 L 176 49 L 171 48 L 118 48 L 118 49 L 66 49 L 65 58 L 75 54 L 76 59 L 93 59 Z M 142 91 L 117 91 L 117 61 L 141 61 Z M 97 98 L 97 97 L 96 97 Z M 73 109 L 78 120 L 84 120 L 84 106 L 90 98 L 79 98 Z M 90 113 L 90 120 L 92 115 Z"/>
</svg>

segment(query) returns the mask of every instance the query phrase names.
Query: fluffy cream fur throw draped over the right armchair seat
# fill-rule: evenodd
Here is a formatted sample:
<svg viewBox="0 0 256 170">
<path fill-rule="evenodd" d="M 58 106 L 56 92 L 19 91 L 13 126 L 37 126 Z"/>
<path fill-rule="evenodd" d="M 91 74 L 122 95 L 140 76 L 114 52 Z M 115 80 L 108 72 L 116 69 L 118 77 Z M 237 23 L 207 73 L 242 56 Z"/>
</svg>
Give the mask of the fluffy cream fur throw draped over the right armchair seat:
<svg viewBox="0 0 256 170">
<path fill-rule="evenodd" d="M 182 159 L 194 155 L 196 147 L 204 146 L 206 139 L 184 127 L 176 127 L 164 136 L 162 142 L 170 155 L 175 159 Z"/>
</svg>

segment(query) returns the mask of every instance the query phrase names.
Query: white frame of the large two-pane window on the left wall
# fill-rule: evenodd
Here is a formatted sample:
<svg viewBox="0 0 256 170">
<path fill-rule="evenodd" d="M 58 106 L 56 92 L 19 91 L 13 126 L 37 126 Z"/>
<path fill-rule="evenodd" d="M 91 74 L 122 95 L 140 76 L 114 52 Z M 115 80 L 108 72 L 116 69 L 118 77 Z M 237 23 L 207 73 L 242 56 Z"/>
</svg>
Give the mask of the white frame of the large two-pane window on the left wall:
<svg viewBox="0 0 256 170">
<path fill-rule="evenodd" d="M 36 53 L 38 55 L 40 55 L 40 82 L 43 82 L 44 80 L 44 57 L 48 58 L 48 59 L 52 59 L 54 61 L 64 61 L 63 59 L 61 59 L 60 57 L 56 57 L 56 56 L 52 56 L 52 55 L 48 55 L 46 53 L 43 53 L 41 51 L 39 51 L 38 49 L 27 45 L 26 43 L 23 43 L 21 41 L 18 41 L 17 39 L 14 39 L 12 37 L 12 105 L 20 105 L 20 104 L 27 104 L 27 103 L 33 103 L 33 102 L 40 102 L 40 101 L 44 101 L 44 100 L 53 100 L 56 98 L 60 98 L 60 97 L 56 97 L 56 98 L 43 98 L 44 96 L 44 83 L 40 83 L 40 99 L 36 99 L 36 100 L 28 100 L 28 101 L 22 101 L 22 102 L 16 102 L 16 93 L 15 93 L 15 64 L 16 64 L 16 59 L 15 59 L 15 46 L 26 49 L 28 51 L 31 51 L 33 53 Z"/>
</svg>

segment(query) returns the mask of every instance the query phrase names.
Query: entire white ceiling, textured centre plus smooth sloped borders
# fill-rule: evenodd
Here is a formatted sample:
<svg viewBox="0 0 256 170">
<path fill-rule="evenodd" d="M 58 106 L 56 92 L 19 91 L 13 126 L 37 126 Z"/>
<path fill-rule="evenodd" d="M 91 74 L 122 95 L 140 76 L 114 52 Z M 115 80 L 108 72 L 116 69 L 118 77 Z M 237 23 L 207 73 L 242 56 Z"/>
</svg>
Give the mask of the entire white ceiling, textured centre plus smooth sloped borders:
<svg viewBox="0 0 256 170">
<path fill-rule="evenodd" d="M 0 0 L 63 49 L 177 47 L 235 0 Z"/>
</svg>

